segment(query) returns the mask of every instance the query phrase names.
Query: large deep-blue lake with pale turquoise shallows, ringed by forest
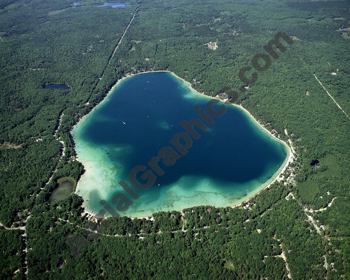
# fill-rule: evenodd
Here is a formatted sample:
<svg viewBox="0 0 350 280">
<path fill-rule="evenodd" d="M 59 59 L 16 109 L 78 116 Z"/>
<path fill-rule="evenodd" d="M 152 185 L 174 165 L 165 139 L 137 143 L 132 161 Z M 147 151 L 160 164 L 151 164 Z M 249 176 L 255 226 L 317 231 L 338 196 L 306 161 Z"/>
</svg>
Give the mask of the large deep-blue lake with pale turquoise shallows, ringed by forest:
<svg viewBox="0 0 350 280">
<path fill-rule="evenodd" d="M 73 130 L 76 151 L 86 172 L 77 185 L 87 211 L 102 209 L 105 200 L 114 209 L 112 197 L 124 193 L 120 180 L 147 162 L 176 133 L 186 132 L 179 124 L 200 118 L 193 110 L 206 111 L 210 99 L 168 72 L 135 75 L 121 80 L 116 88 Z M 219 103 L 214 106 L 218 110 Z M 288 148 L 270 137 L 237 106 L 224 105 L 226 112 L 212 119 L 207 131 L 174 165 L 165 166 L 154 185 L 134 189 L 140 198 L 120 215 L 146 216 L 162 210 L 182 210 L 191 205 L 232 205 L 266 186 L 288 157 Z M 183 143 L 182 143 L 183 144 Z M 149 170 L 148 168 L 147 170 Z M 143 172 L 139 172 L 142 175 Z M 142 181 L 138 177 L 139 182 Z M 107 213 L 108 214 L 108 213 Z"/>
</svg>

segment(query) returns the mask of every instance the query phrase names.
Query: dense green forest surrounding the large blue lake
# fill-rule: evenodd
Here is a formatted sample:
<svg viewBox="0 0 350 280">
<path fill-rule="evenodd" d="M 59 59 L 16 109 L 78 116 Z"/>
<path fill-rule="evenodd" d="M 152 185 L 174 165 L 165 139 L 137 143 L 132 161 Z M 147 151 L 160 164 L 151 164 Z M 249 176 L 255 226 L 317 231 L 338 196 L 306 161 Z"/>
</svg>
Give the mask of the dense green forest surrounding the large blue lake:
<svg viewBox="0 0 350 280">
<path fill-rule="evenodd" d="M 28 279 L 350 279 L 350 39 L 339 31 L 350 2 L 99 3 L 0 0 L 0 222 L 19 227 L 30 213 L 26 242 L 23 230 L 0 229 L 1 279 L 25 278 L 25 259 Z M 294 43 L 281 40 L 287 51 L 241 82 L 278 32 Z M 238 91 L 237 104 L 292 140 L 296 182 L 275 183 L 249 210 L 207 205 L 153 221 L 87 221 L 77 195 L 50 203 L 59 178 L 84 172 L 72 126 L 118 79 L 153 70 L 210 96 Z"/>
</svg>

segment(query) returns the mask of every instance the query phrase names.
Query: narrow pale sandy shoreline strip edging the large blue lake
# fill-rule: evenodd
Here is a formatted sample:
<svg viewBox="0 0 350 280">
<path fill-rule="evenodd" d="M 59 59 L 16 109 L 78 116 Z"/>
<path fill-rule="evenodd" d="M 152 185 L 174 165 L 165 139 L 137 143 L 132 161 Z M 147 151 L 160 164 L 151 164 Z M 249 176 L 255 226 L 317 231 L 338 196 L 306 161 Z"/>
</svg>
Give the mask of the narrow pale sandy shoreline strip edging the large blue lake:
<svg viewBox="0 0 350 280">
<path fill-rule="evenodd" d="M 180 78 L 180 77 L 177 76 L 174 72 L 170 72 L 170 71 L 167 71 L 167 70 L 157 70 L 157 71 L 145 71 L 145 72 L 134 73 L 134 74 L 126 75 L 125 77 L 123 77 L 123 78 L 117 80 L 117 83 L 114 84 L 114 85 L 111 87 L 111 89 L 108 91 L 108 93 L 106 94 L 106 96 L 101 100 L 101 102 L 98 103 L 96 106 L 94 106 L 93 109 L 92 109 L 89 113 L 87 113 L 87 114 L 85 114 L 84 116 L 80 117 L 79 120 L 77 121 L 77 123 L 76 123 L 75 125 L 72 126 L 72 128 L 71 128 L 71 130 L 70 130 L 70 134 L 72 135 L 73 129 L 77 126 L 77 124 L 80 123 L 80 121 L 82 121 L 82 120 L 83 120 L 86 116 L 88 116 L 93 110 L 95 110 L 95 108 L 96 108 L 97 106 L 99 106 L 100 104 L 103 104 L 103 102 L 106 101 L 106 98 L 107 98 L 107 97 L 110 95 L 110 93 L 120 84 L 120 82 L 122 82 L 123 80 L 126 80 L 126 79 L 129 78 L 129 77 L 135 76 L 135 75 L 140 75 L 140 74 L 145 74 L 145 73 L 153 73 L 153 72 L 168 72 L 168 73 L 170 73 L 171 75 L 173 75 L 174 77 L 176 77 L 177 79 L 180 79 L 180 80 L 182 80 L 182 82 L 188 84 L 188 86 L 190 87 L 190 89 L 191 89 L 192 91 L 196 92 L 197 94 L 199 94 L 200 96 L 207 97 L 207 98 L 210 98 L 210 99 L 217 99 L 217 100 L 220 100 L 220 101 L 223 102 L 223 103 L 225 103 L 225 101 L 226 101 L 225 99 L 220 99 L 220 98 L 218 98 L 218 97 L 208 96 L 208 95 L 206 95 L 206 94 L 204 94 L 204 93 L 200 93 L 200 92 L 196 91 L 196 90 L 192 87 L 191 83 L 187 82 L 187 81 L 184 80 L 183 78 Z M 281 169 L 280 172 L 279 172 L 276 176 L 274 175 L 274 176 L 272 176 L 269 180 L 267 180 L 267 181 L 265 182 L 266 186 L 260 186 L 260 187 L 258 187 L 255 191 L 253 191 L 250 195 L 247 195 L 247 196 L 245 196 L 245 197 L 243 197 L 243 198 L 241 198 L 241 199 L 235 201 L 234 204 L 227 205 L 228 207 L 234 208 L 234 207 L 240 206 L 243 202 L 249 201 L 252 197 L 254 197 L 255 195 L 259 194 L 262 190 L 269 188 L 275 181 L 277 181 L 277 180 L 280 178 L 281 174 L 283 174 L 283 172 L 285 172 L 286 168 L 288 167 L 289 163 L 291 162 L 291 160 L 292 160 L 292 158 L 293 158 L 293 153 L 292 153 L 292 150 L 290 149 L 289 145 L 288 145 L 285 141 L 283 141 L 283 140 L 277 138 L 277 137 L 276 137 L 275 135 L 273 135 L 270 131 L 268 131 L 268 130 L 267 130 L 264 126 L 262 126 L 262 125 L 253 117 L 253 115 L 252 115 L 248 110 L 246 110 L 243 106 L 237 105 L 237 104 L 234 104 L 234 103 L 231 103 L 231 104 L 225 103 L 225 104 L 226 104 L 226 105 L 233 105 L 233 106 L 236 106 L 236 107 L 240 108 L 241 110 L 243 110 L 245 113 L 247 113 L 247 114 L 255 121 L 256 124 L 258 124 L 258 125 L 260 126 L 260 128 L 261 128 L 262 130 L 264 130 L 265 132 L 267 132 L 268 134 L 270 134 L 272 137 L 274 137 L 276 140 L 282 142 L 286 147 L 288 147 L 288 156 L 287 156 L 285 162 L 283 163 L 283 167 L 282 167 L 282 168 L 279 168 L 279 169 Z M 80 161 L 78 157 L 76 157 L 76 160 L 79 161 L 80 163 L 82 163 L 82 165 L 83 165 L 84 168 L 85 168 L 84 163 L 86 163 L 86 162 Z M 83 176 L 83 175 L 82 175 L 82 176 Z M 77 186 L 78 186 L 78 183 L 79 183 L 80 180 L 81 180 L 81 177 L 80 177 L 80 179 L 77 181 L 77 183 L 76 183 L 76 185 L 75 185 L 75 188 L 74 188 L 74 192 L 73 192 L 74 194 L 77 194 L 77 195 L 79 195 L 79 194 L 76 192 L 76 190 L 77 190 Z M 80 195 L 79 195 L 79 196 L 80 196 Z M 174 211 L 179 211 L 179 212 L 182 213 L 182 210 L 183 210 L 183 209 L 180 209 L 180 210 L 172 209 L 172 210 L 174 210 Z M 84 208 L 84 212 L 87 213 L 88 215 L 93 215 L 93 214 L 91 214 L 90 212 L 88 212 L 85 208 Z M 94 215 L 93 215 L 93 216 L 94 216 Z M 146 219 L 148 219 L 148 217 L 149 217 L 149 216 L 139 216 L 139 217 L 131 217 L 131 218 L 132 218 L 132 219 L 134 219 L 134 218 L 139 218 L 139 219 L 146 218 Z"/>
</svg>

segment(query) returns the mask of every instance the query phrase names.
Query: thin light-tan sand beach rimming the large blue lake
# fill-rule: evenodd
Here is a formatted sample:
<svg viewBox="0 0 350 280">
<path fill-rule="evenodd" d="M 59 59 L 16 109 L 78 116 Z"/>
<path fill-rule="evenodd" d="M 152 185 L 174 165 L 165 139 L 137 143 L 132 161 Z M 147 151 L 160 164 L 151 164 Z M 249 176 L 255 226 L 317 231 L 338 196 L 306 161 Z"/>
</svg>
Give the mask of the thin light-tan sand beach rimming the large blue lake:
<svg viewBox="0 0 350 280">
<path fill-rule="evenodd" d="M 118 86 L 118 84 L 119 84 L 121 81 L 125 80 L 125 79 L 128 78 L 128 77 L 134 76 L 134 75 L 139 75 L 139 74 L 143 74 L 143 73 L 150 73 L 150 72 L 168 72 L 168 73 L 171 73 L 171 74 L 172 74 L 173 76 L 175 76 L 176 78 L 178 78 L 178 79 L 182 80 L 183 82 L 187 83 L 187 84 L 189 85 L 189 87 L 191 88 L 191 90 L 193 90 L 194 92 L 196 92 L 196 93 L 199 94 L 200 96 L 203 96 L 203 97 L 206 97 L 206 98 L 209 98 L 209 99 L 218 99 L 219 101 L 225 103 L 225 100 L 223 100 L 223 99 L 220 99 L 220 98 L 217 98 L 217 97 L 207 96 L 207 95 L 205 95 L 204 93 L 200 93 L 200 92 L 196 91 L 195 89 L 193 89 L 193 87 L 191 86 L 191 84 L 190 84 L 189 82 L 187 82 L 186 80 L 184 80 L 184 79 L 182 79 L 182 78 L 176 76 L 176 74 L 173 73 L 173 72 L 170 72 L 170 71 L 146 71 L 146 72 L 140 72 L 140 73 L 135 73 L 135 74 L 127 75 L 127 76 L 125 76 L 125 77 L 119 79 L 119 80 L 117 81 L 117 83 L 116 83 L 115 85 L 113 85 L 113 87 L 109 90 L 109 92 L 106 94 L 106 96 L 104 97 L 104 99 L 103 99 L 99 104 L 97 104 L 88 114 L 86 114 L 86 115 L 84 115 L 84 116 L 82 116 L 82 117 L 79 118 L 78 122 L 77 122 L 75 125 L 72 126 L 70 133 L 72 134 L 73 129 L 76 127 L 76 125 L 77 125 L 83 118 L 85 118 L 86 116 L 88 116 L 97 106 L 99 106 L 100 104 L 102 104 L 103 102 L 105 102 L 105 100 L 106 100 L 106 98 L 109 96 L 109 94 Z M 225 103 L 225 104 L 227 104 L 227 103 Z M 292 153 L 292 151 L 291 151 L 289 145 L 287 145 L 286 142 L 284 142 L 284 141 L 282 141 L 281 139 L 275 137 L 275 136 L 274 136 L 271 132 L 269 132 L 264 126 L 262 126 L 262 125 L 261 125 L 261 124 L 260 124 L 260 123 L 259 123 L 245 108 L 243 108 L 241 105 L 237 105 L 237 104 L 227 104 L 227 105 L 233 105 L 233 106 L 236 106 L 236 107 L 240 108 L 241 110 L 245 111 L 245 112 L 255 121 L 255 123 L 257 123 L 263 130 L 265 130 L 267 133 L 269 133 L 269 134 L 270 134 L 272 137 L 274 137 L 276 140 L 282 142 L 285 146 L 288 147 L 288 159 L 285 161 L 285 164 L 283 165 L 283 167 L 280 168 L 281 170 L 280 170 L 280 172 L 277 174 L 277 176 L 275 176 L 275 177 L 271 178 L 269 181 L 267 181 L 267 182 L 265 183 L 266 186 L 261 186 L 261 187 L 259 187 L 256 191 L 250 192 L 249 194 L 247 193 L 247 196 L 241 198 L 240 200 L 236 200 L 236 201 L 235 201 L 235 204 L 228 205 L 228 206 L 230 206 L 230 207 L 237 207 L 237 206 L 241 205 L 242 202 L 245 202 L 245 201 L 250 200 L 250 198 L 252 198 L 253 196 L 257 195 L 261 190 L 264 190 L 265 188 L 269 188 L 269 187 L 271 186 L 271 184 L 273 184 L 273 183 L 280 177 L 280 175 L 281 175 L 283 172 L 285 172 L 287 166 L 289 165 L 290 161 L 291 161 L 292 158 L 293 158 L 293 153 Z M 81 163 L 84 165 L 84 168 L 86 168 L 86 162 L 81 161 L 79 158 L 76 158 L 76 160 L 79 161 L 79 162 L 81 162 Z M 85 163 L 85 164 L 84 164 L 84 163 Z M 79 181 L 80 181 L 80 180 L 79 180 Z M 78 183 L 79 183 L 79 182 L 78 182 Z M 77 190 L 77 187 L 76 187 L 76 189 L 75 189 L 75 191 L 74 191 L 75 194 L 77 194 L 76 190 Z M 79 195 L 79 194 L 78 194 L 78 195 Z M 212 205 L 214 205 L 214 204 L 215 204 L 215 201 L 213 201 Z M 172 209 L 172 210 L 181 211 L 182 209 Z M 90 212 L 89 212 L 88 210 L 84 210 L 84 212 L 86 212 L 86 213 L 89 214 L 89 215 L 92 215 L 92 214 L 91 214 L 91 209 L 90 209 Z M 95 213 L 95 214 L 96 214 L 96 213 Z M 142 214 L 141 214 L 141 215 L 142 215 Z M 148 218 L 148 216 L 133 217 L 133 218 Z"/>
</svg>

